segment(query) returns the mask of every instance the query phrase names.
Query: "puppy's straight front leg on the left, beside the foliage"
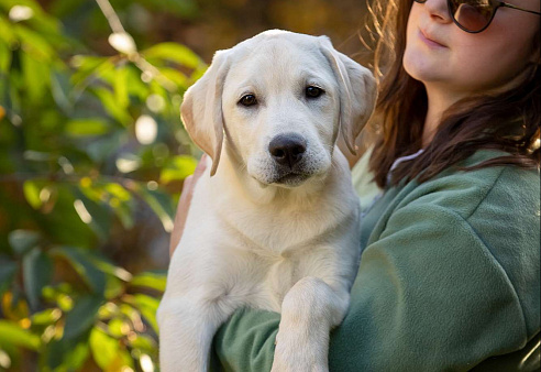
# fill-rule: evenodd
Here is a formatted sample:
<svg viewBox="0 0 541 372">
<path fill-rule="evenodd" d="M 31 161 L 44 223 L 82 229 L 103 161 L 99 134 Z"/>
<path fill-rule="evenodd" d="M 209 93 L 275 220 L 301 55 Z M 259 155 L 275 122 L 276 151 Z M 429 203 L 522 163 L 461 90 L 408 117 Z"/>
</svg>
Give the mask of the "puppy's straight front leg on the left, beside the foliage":
<svg viewBox="0 0 541 372">
<path fill-rule="evenodd" d="M 217 300 L 167 298 L 157 313 L 159 363 L 164 372 L 206 372 L 212 337 L 230 314 Z"/>
</svg>

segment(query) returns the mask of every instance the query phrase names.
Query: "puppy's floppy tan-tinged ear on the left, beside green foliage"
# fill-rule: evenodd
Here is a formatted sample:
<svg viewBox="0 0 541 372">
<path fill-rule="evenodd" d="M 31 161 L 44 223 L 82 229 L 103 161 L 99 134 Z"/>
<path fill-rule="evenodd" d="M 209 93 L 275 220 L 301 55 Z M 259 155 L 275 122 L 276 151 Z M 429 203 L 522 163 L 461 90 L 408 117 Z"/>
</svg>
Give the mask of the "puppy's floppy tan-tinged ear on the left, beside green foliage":
<svg viewBox="0 0 541 372">
<path fill-rule="evenodd" d="M 210 175 L 220 162 L 223 142 L 223 84 L 229 70 L 228 51 L 218 51 L 210 67 L 184 95 L 180 117 L 191 140 L 212 158 Z"/>
</svg>

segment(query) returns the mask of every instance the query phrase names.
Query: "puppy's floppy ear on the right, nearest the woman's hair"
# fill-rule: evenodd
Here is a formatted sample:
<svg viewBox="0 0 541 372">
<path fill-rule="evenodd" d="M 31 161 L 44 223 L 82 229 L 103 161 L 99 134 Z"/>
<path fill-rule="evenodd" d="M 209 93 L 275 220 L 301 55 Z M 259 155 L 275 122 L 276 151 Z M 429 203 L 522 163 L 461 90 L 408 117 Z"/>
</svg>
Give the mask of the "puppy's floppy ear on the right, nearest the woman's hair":
<svg viewBox="0 0 541 372">
<path fill-rule="evenodd" d="M 339 53 L 327 36 L 320 37 L 321 52 L 332 67 L 340 89 L 340 132 L 347 150 L 356 155 L 358 136 L 376 105 L 376 80 L 372 73 Z"/>
</svg>

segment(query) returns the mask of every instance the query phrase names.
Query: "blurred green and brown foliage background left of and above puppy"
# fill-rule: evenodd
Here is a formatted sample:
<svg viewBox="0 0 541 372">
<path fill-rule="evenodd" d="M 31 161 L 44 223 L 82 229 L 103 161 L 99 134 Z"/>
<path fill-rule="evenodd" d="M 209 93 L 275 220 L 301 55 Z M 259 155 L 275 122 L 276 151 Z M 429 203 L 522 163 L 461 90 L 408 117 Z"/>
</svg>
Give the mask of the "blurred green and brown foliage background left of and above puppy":
<svg viewBox="0 0 541 372">
<path fill-rule="evenodd" d="M 184 178 L 178 114 L 216 50 L 325 34 L 368 66 L 365 0 L 0 0 L 0 370 L 157 371 Z"/>
</svg>

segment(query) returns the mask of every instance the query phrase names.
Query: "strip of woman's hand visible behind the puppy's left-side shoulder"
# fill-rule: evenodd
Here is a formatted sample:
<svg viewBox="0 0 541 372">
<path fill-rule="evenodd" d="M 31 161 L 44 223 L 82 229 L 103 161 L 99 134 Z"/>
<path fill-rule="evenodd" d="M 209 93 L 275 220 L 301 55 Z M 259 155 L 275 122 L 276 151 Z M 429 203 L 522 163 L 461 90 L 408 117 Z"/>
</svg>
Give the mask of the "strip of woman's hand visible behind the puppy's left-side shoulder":
<svg viewBox="0 0 541 372">
<path fill-rule="evenodd" d="M 173 232 L 170 233 L 169 242 L 169 258 L 173 256 L 173 252 L 180 242 L 183 237 L 184 226 L 186 223 L 186 218 L 188 217 L 188 209 L 191 204 L 191 197 L 194 196 L 194 189 L 196 188 L 196 183 L 203 174 L 207 168 L 207 155 L 203 154 L 199 164 L 197 164 L 196 171 L 192 175 L 186 177 L 183 185 L 183 194 L 178 200 L 177 215 L 175 216 L 175 225 L 173 227 Z"/>
</svg>

